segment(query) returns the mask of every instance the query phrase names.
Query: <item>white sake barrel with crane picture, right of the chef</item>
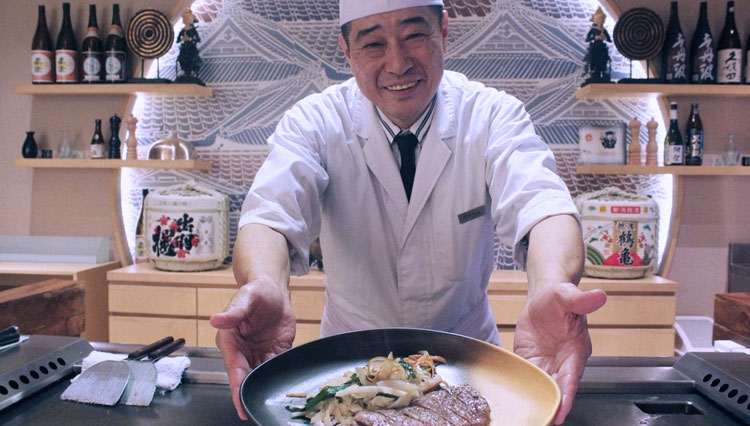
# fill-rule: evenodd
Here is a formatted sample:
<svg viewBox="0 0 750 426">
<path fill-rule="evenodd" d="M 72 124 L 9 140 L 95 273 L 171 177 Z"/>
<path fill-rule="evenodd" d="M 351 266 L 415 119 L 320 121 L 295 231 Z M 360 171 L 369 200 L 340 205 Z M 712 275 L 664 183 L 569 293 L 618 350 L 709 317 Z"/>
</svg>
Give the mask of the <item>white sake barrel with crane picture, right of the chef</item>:
<svg viewBox="0 0 750 426">
<path fill-rule="evenodd" d="M 576 205 L 586 275 L 640 278 L 656 268 L 659 210 L 654 200 L 606 188 L 578 196 Z"/>
</svg>

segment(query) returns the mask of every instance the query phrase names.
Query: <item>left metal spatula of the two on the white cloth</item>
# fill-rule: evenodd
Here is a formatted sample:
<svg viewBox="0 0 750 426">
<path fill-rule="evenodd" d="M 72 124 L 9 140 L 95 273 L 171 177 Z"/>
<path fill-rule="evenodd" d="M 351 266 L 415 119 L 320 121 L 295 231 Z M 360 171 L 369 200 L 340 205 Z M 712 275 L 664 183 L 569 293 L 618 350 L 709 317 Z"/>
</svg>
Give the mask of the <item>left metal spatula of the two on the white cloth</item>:
<svg viewBox="0 0 750 426">
<path fill-rule="evenodd" d="M 128 355 L 143 357 L 156 348 L 169 344 L 174 338 L 167 337 Z M 130 381 L 131 371 L 127 362 L 103 361 L 92 365 L 68 386 L 60 395 L 65 401 L 113 406 L 122 397 Z"/>
</svg>

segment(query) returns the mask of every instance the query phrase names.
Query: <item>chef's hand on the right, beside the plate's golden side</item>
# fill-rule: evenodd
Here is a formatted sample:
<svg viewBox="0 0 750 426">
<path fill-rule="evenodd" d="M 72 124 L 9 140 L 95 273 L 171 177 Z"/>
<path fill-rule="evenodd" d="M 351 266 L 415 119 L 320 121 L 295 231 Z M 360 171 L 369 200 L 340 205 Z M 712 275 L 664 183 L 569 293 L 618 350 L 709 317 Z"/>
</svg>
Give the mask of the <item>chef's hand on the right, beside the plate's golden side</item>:
<svg viewBox="0 0 750 426">
<path fill-rule="evenodd" d="M 549 284 L 529 300 L 518 319 L 513 350 L 554 377 L 562 392 L 555 424 L 565 421 L 573 407 L 591 355 L 586 315 L 606 301 L 602 290 L 584 292 L 571 283 Z"/>
</svg>

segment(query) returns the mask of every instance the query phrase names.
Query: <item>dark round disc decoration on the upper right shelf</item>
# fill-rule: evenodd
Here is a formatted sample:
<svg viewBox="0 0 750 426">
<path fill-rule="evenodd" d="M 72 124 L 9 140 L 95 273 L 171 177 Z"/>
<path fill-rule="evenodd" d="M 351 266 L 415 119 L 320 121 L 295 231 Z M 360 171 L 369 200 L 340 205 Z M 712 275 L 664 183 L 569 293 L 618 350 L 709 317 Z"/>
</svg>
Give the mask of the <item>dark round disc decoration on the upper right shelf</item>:
<svg viewBox="0 0 750 426">
<path fill-rule="evenodd" d="M 659 54 L 664 37 L 659 15 L 639 7 L 630 9 L 617 20 L 613 38 L 617 50 L 624 57 L 640 61 Z"/>
</svg>

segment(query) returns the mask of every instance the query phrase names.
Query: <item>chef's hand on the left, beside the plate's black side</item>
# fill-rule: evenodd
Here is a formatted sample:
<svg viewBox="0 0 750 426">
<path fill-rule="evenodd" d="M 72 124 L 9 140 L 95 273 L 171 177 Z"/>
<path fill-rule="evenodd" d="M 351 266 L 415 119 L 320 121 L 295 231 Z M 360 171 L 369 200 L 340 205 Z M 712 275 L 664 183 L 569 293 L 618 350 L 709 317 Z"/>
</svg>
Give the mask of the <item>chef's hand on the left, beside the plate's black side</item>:
<svg viewBox="0 0 750 426">
<path fill-rule="evenodd" d="M 224 312 L 211 316 L 241 419 L 247 420 L 239 395 L 242 381 L 252 368 L 292 347 L 295 324 L 289 299 L 278 285 L 263 280 L 242 286 Z"/>
</svg>

